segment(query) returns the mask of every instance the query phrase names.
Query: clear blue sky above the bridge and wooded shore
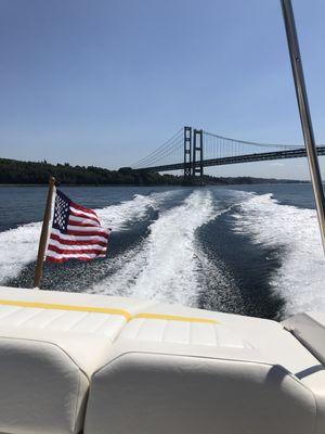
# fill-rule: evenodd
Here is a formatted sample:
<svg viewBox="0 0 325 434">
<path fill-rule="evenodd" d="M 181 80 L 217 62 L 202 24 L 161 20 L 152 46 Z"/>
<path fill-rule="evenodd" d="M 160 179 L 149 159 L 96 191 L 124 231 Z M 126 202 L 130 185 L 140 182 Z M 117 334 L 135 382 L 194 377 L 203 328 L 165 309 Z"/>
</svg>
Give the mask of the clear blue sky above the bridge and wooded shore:
<svg viewBox="0 0 325 434">
<path fill-rule="evenodd" d="M 325 2 L 292 4 L 325 143 Z M 278 0 L 0 0 L 0 95 L 2 157 L 117 168 L 183 125 L 302 142 Z M 209 173 L 308 178 L 303 158 Z"/>
</svg>

